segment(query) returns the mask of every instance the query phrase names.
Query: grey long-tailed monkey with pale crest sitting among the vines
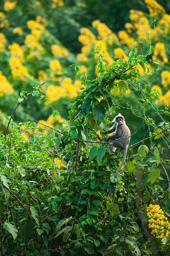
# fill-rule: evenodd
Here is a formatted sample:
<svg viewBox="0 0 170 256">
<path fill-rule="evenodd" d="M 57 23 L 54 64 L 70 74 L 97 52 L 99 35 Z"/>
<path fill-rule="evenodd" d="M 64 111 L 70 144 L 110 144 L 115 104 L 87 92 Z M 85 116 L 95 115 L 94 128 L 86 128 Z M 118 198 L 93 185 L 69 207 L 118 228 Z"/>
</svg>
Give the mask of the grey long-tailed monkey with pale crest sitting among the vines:
<svg viewBox="0 0 170 256">
<path fill-rule="evenodd" d="M 124 117 L 120 113 L 117 116 L 115 116 L 115 118 L 113 119 L 113 122 L 116 122 L 116 123 L 112 126 L 112 128 L 110 128 L 108 132 L 102 132 L 102 133 L 106 134 L 106 133 L 115 132 L 113 135 L 107 137 L 106 142 L 108 142 L 109 151 L 113 151 L 113 147 L 115 147 L 115 151 L 117 149 L 124 148 L 123 159 L 121 161 L 119 168 L 114 174 L 114 177 L 115 177 L 120 171 L 126 159 L 128 146 L 130 142 L 130 130 L 125 123 Z M 112 182 L 110 183 L 109 196 L 111 196 L 111 192 L 112 192 Z"/>
</svg>

